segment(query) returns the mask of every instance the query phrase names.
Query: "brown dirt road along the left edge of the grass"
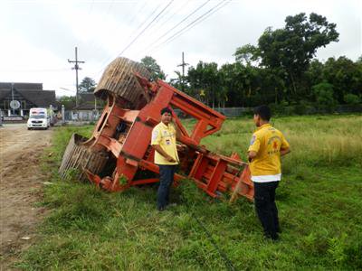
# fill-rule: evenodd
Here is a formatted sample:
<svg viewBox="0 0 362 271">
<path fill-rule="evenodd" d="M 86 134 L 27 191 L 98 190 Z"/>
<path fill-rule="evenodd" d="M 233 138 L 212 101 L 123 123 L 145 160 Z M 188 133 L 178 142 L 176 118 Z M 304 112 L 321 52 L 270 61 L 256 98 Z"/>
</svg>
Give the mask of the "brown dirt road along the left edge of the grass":
<svg viewBox="0 0 362 271">
<path fill-rule="evenodd" d="M 28 131 L 26 124 L 0 127 L 0 261 L 11 270 L 19 253 L 36 238 L 35 227 L 45 209 L 36 207 L 42 198 L 40 159 L 51 145 L 52 129 Z"/>
</svg>

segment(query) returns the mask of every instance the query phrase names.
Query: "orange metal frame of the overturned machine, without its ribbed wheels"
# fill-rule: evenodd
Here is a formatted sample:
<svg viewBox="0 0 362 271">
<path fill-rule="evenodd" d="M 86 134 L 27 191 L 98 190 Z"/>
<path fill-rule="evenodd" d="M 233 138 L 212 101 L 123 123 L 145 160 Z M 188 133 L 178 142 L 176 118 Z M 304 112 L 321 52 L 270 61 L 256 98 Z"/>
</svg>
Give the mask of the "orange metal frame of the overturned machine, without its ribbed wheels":
<svg viewBox="0 0 362 271">
<path fill-rule="evenodd" d="M 156 174 L 146 178 L 137 178 L 136 174 L 139 171 L 159 173 L 157 164 L 153 163 L 154 150 L 150 146 L 150 139 L 153 127 L 160 122 L 161 108 L 170 107 L 177 108 L 196 120 L 194 129 L 189 134 L 173 111 L 175 124 L 181 132 L 178 141 L 188 147 L 186 151 L 179 153 L 182 173 L 175 174 L 175 182 L 190 179 L 212 197 L 223 192 L 233 192 L 233 199 L 237 195 L 243 195 L 252 201 L 253 185 L 248 165 L 237 154 L 226 157 L 211 153 L 200 145 L 202 138 L 221 129 L 224 115 L 163 80 L 149 82 L 138 74 L 136 76 L 139 84 L 150 95 L 151 101 L 139 110 L 129 110 L 124 109 L 125 101 L 109 96 L 100 121 L 85 145 L 96 151 L 108 150 L 117 162 L 112 176 L 100 177 L 86 170 L 90 182 L 95 182 L 110 192 L 158 182 Z"/>
</svg>

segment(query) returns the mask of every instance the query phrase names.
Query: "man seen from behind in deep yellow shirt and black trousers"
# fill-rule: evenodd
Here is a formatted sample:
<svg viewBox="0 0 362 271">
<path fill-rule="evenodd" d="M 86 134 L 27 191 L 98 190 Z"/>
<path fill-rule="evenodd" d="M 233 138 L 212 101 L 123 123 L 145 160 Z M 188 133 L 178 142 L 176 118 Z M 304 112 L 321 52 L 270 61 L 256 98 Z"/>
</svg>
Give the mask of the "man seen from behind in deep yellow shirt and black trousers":
<svg viewBox="0 0 362 271">
<path fill-rule="evenodd" d="M 257 126 L 248 149 L 250 171 L 254 183 L 255 210 L 262 222 L 264 235 L 273 240 L 280 232 L 275 190 L 281 181 L 281 156 L 291 152 L 281 131 L 269 123 L 271 109 L 260 106 L 254 109 Z"/>
</svg>

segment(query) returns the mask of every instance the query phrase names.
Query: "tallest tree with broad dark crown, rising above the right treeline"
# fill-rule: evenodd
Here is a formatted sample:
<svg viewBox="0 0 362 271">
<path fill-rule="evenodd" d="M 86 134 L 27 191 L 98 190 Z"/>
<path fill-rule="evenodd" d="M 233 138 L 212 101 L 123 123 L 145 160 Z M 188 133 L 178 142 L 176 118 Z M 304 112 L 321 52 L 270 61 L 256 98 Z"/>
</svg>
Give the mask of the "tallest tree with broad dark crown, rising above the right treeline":
<svg viewBox="0 0 362 271">
<path fill-rule="evenodd" d="M 263 67 L 286 72 L 290 94 L 295 96 L 316 51 L 329 42 L 338 42 L 339 34 L 336 24 L 328 23 L 326 17 L 319 14 L 310 14 L 309 20 L 304 13 L 288 16 L 285 23 L 282 29 L 267 28 L 254 52 L 261 57 Z"/>
</svg>

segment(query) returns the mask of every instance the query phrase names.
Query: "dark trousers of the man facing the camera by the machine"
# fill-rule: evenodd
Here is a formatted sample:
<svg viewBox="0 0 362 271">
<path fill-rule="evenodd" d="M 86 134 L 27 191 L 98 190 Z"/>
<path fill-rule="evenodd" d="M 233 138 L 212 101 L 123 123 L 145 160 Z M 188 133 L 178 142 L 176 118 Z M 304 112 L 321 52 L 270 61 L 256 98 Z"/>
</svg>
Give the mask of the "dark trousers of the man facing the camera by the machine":
<svg viewBox="0 0 362 271">
<path fill-rule="evenodd" d="M 168 197 L 172 182 L 174 182 L 174 174 L 176 172 L 176 164 L 158 164 L 159 166 L 159 186 L 157 191 L 157 209 L 164 209 L 168 204 Z"/>
</svg>

